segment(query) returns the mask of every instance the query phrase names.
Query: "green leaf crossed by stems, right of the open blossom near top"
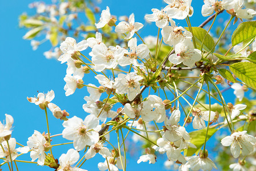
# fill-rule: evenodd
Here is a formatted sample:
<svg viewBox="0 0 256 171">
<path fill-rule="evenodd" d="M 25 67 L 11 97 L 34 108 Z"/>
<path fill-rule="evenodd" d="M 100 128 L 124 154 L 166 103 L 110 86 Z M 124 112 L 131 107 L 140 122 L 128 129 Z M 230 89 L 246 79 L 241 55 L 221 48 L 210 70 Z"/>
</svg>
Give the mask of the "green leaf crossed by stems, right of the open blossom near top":
<svg viewBox="0 0 256 171">
<path fill-rule="evenodd" d="M 189 31 L 189 28 L 186 27 L 186 30 Z M 207 31 L 201 27 L 192 27 L 192 30 L 195 38 L 195 43 L 197 43 L 197 48 L 201 49 L 203 38 L 205 38 Z M 207 34 L 203 42 L 203 49 L 209 52 L 212 48 L 214 48 L 214 45 L 215 43 L 213 38 L 209 34 Z"/>
</svg>

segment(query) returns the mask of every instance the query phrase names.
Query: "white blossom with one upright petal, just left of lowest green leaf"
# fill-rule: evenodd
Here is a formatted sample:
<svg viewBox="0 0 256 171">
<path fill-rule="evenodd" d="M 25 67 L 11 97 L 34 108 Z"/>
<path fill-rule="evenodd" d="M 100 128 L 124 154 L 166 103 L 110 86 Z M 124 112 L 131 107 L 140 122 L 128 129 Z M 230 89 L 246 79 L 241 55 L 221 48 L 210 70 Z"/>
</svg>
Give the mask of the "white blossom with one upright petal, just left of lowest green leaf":
<svg viewBox="0 0 256 171">
<path fill-rule="evenodd" d="M 164 137 L 169 141 L 178 141 L 180 139 L 189 140 L 190 136 L 184 127 L 178 125 L 179 119 L 181 117 L 181 112 L 177 109 L 171 113 L 170 118 L 166 117 L 165 126 L 167 130 L 165 131 Z"/>
</svg>

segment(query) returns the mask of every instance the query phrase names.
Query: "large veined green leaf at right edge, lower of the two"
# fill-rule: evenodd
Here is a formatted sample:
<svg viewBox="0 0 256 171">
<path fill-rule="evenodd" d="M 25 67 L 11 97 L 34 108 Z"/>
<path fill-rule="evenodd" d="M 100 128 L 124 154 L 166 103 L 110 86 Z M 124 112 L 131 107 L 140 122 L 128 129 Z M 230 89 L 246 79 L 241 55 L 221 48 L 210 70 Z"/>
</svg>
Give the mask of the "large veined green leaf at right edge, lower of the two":
<svg viewBox="0 0 256 171">
<path fill-rule="evenodd" d="M 237 78 L 245 82 L 247 86 L 256 89 L 256 64 L 251 62 L 239 62 L 229 66 Z"/>
</svg>

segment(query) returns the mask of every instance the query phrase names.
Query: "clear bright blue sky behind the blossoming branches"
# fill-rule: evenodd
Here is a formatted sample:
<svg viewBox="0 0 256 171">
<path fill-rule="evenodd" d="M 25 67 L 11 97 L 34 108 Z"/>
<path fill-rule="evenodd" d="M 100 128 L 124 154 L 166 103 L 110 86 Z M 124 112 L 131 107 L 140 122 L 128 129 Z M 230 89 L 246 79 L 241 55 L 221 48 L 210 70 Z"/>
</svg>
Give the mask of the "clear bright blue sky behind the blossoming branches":
<svg viewBox="0 0 256 171">
<path fill-rule="evenodd" d="M 44 43 L 39 46 L 38 50 L 33 51 L 30 41 L 22 39 L 27 30 L 19 28 L 18 17 L 25 11 L 29 15 L 35 14 L 35 10 L 28 7 L 31 2 L 34 1 L 0 1 L 0 6 L 2 7 L 0 10 L 0 120 L 5 120 L 5 113 L 14 117 L 12 137 L 15 137 L 18 143 L 23 145 L 26 145 L 27 138 L 33 134 L 34 130 L 47 132 L 45 112 L 37 105 L 27 101 L 27 96 L 33 97 L 37 95 L 37 91 L 47 92 L 53 89 L 55 92 L 53 103 L 69 112 L 70 116 L 75 115 L 84 119 L 87 115 L 82 109 L 82 105 L 85 103 L 83 97 L 88 95 L 87 89 L 77 89 L 74 95 L 66 97 L 63 90 L 65 86 L 63 78 L 66 75 L 66 64 L 60 64 L 55 59 L 49 60 L 43 56 L 43 52 L 50 49 L 50 43 Z M 49 3 L 50 1 L 45 2 Z M 192 26 L 199 26 L 206 19 L 201 15 L 202 5 L 203 1 L 194 0 L 192 2 L 194 7 L 194 15 L 190 20 Z M 129 16 L 131 13 L 134 13 L 135 22 L 141 22 L 145 25 L 140 31 L 140 35 L 145 37 L 149 34 L 157 35 L 155 23 L 146 23 L 144 20 L 145 14 L 151 14 L 151 9 L 153 8 L 161 9 L 161 7 L 165 7 L 165 3 L 162 1 L 146 0 L 109 0 L 103 1 L 99 6 L 101 10 L 109 6 L 111 14 L 117 17 L 120 15 Z M 228 17 L 226 14 L 221 15 L 224 18 Z M 178 26 L 187 26 L 185 21 L 176 20 L 176 23 Z M 77 42 L 79 41 L 77 40 Z M 92 76 L 86 77 L 87 75 L 85 75 L 84 79 L 86 84 L 93 83 L 99 86 Z M 229 93 L 230 102 L 234 102 L 235 96 L 233 91 L 227 93 Z M 52 135 L 63 131 L 62 121 L 55 119 L 50 111 L 49 124 Z M 53 144 L 69 142 L 65 139 L 53 139 Z M 58 158 L 62 153 L 66 153 L 67 149 L 73 147 L 73 145 L 70 145 L 69 148 L 68 146 L 54 149 L 54 157 Z M 214 146 L 214 144 L 209 143 L 209 148 L 211 146 Z M 62 149 L 63 147 L 65 147 L 65 150 Z M 163 161 L 166 160 L 166 156 L 158 158 L 158 162 L 154 165 L 149 165 L 148 163 L 135 164 L 138 158 L 138 155 L 129 157 L 127 170 L 165 170 Z M 31 159 L 29 154 L 24 154 L 22 157 L 17 158 L 17 160 L 30 161 Z M 98 156 L 90 161 L 86 161 L 84 169 L 89 171 L 98 170 L 98 162 L 104 162 L 104 158 Z M 7 170 L 6 166 L 3 166 L 2 169 Z M 46 166 L 41 167 L 36 164 L 22 164 L 19 162 L 18 168 L 19 170 L 53 170 Z"/>
</svg>

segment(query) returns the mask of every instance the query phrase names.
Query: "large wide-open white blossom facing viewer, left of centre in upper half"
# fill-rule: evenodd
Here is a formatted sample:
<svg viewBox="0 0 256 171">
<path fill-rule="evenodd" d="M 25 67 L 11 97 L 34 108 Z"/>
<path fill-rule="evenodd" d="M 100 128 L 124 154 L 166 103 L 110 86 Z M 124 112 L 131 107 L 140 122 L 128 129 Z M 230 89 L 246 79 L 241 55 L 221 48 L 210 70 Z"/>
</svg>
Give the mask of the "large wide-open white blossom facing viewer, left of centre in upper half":
<svg viewBox="0 0 256 171">
<path fill-rule="evenodd" d="M 92 62 L 95 64 L 94 70 L 101 72 L 105 68 L 115 68 L 117 66 L 117 60 L 124 54 L 124 49 L 112 51 L 111 48 L 107 48 L 104 43 L 96 44 L 92 50 Z"/>
</svg>

